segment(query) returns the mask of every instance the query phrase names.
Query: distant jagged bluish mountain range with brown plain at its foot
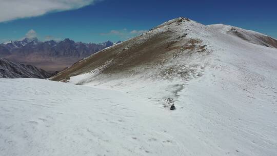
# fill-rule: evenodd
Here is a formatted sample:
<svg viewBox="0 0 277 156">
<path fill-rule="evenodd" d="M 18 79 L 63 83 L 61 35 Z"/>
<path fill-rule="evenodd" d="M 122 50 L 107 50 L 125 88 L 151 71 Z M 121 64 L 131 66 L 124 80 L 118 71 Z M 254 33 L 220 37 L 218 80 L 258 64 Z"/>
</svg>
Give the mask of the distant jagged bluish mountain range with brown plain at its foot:
<svg viewBox="0 0 277 156">
<path fill-rule="evenodd" d="M 97 51 L 120 43 L 110 41 L 94 44 L 64 41 L 40 42 L 37 38 L 24 38 L 22 41 L 9 41 L 0 44 L 0 57 L 10 61 L 34 65 L 49 72 L 60 71 Z"/>
</svg>

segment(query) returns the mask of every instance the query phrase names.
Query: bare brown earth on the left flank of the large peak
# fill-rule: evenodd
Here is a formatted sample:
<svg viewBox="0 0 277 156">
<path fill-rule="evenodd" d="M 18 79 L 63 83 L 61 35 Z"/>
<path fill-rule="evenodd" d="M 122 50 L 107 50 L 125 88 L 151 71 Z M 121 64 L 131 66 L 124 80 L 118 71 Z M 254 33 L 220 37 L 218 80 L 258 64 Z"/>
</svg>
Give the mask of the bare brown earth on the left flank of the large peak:
<svg viewBox="0 0 277 156">
<path fill-rule="evenodd" d="M 187 22 L 187 20 L 184 18 L 182 22 Z M 201 40 L 189 38 L 187 33 L 179 35 L 169 29 L 158 33 L 149 32 L 97 52 L 58 73 L 52 77 L 52 80 L 62 81 L 66 77 L 87 73 L 98 68 L 101 68 L 100 72 L 106 75 L 133 72 L 133 69 L 138 66 L 155 68 L 156 65 L 161 65 L 172 58 L 181 55 L 186 57 L 186 55 L 190 56 L 193 53 L 205 52 L 205 50 L 206 46 L 202 45 Z M 170 74 L 171 70 L 173 69 L 169 68 L 162 71 L 161 74 L 167 71 Z M 187 69 L 185 71 L 173 71 L 178 72 L 182 77 L 191 73 Z"/>
</svg>

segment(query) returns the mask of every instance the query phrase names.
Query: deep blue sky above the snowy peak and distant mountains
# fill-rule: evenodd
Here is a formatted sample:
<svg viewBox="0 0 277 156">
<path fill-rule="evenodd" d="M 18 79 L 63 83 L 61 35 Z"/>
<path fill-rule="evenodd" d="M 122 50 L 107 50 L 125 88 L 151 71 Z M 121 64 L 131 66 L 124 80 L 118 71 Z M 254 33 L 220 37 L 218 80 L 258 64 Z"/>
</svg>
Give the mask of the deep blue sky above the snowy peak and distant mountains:
<svg viewBox="0 0 277 156">
<path fill-rule="evenodd" d="M 41 41 L 124 41 L 180 16 L 205 25 L 223 23 L 277 38 L 274 1 L 39 0 L 44 4 L 37 6 L 32 6 L 35 0 L 26 0 L 25 6 L 3 1 L 0 43 L 26 36 L 37 36 Z"/>
</svg>

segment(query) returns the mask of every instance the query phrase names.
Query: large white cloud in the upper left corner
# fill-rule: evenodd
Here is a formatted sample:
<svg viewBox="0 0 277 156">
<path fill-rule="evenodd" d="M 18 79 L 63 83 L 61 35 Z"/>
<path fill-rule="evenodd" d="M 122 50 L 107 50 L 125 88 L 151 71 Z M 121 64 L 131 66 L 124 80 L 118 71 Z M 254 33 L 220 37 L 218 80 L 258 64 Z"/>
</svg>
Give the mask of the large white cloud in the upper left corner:
<svg viewBox="0 0 277 156">
<path fill-rule="evenodd" d="M 95 1 L 97 0 L 0 0 L 0 22 L 78 9 Z"/>
</svg>

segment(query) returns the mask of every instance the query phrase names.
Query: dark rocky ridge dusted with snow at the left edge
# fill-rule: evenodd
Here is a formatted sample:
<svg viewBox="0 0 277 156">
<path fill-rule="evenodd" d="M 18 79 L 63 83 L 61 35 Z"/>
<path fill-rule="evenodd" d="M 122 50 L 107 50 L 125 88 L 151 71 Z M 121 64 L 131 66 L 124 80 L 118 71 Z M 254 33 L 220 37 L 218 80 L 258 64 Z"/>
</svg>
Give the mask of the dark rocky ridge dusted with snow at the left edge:
<svg viewBox="0 0 277 156">
<path fill-rule="evenodd" d="M 52 74 L 32 65 L 24 65 L 0 58 L 0 78 L 38 78 L 45 79 Z"/>
</svg>

